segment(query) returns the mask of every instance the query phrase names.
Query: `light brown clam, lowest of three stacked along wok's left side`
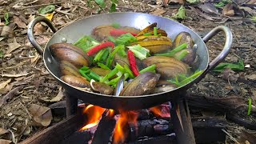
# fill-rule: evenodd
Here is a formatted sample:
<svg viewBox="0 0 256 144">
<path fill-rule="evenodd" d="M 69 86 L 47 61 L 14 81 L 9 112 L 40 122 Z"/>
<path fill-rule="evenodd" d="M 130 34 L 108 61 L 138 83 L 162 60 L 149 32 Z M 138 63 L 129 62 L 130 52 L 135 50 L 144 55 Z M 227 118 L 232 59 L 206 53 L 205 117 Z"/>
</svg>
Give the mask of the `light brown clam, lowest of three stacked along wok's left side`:
<svg viewBox="0 0 256 144">
<path fill-rule="evenodd" d="M 61 79 L 70 84 L 71 86 L 77 86 L 81 88 L 90 88 L 90 82 L 86 80 L 86 78 L 76 77 L 74 75 L 64 75 Z"/>
</svg>

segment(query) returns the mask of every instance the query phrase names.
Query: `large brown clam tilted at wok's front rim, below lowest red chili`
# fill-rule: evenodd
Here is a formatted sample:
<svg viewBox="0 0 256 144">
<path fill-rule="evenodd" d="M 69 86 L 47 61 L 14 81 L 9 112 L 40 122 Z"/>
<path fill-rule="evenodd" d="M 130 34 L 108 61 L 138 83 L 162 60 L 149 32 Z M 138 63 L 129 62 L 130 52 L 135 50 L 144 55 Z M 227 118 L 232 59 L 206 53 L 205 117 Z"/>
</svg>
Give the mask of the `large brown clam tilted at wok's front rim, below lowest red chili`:
<svg viewBox="0 0 256 144">
<path fill-rule="evenodd" d="M 160 75 L 154 74 L 152 72 L 145 72 L 139 74 L 133 81 L 126 84 L 126 86 L 121 91 L 122 96 L 137 96 L 150 94 L 154 87 L 156 86 Z"/>
</svg>

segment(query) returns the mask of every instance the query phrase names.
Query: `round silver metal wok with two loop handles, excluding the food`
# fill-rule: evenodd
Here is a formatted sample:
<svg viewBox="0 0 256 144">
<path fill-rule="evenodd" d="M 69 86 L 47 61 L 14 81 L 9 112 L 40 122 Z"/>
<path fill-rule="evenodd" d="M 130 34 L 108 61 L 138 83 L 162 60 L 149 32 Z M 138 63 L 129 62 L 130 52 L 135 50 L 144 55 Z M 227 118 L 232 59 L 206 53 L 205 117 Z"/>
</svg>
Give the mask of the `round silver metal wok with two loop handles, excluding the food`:
<svg viewBox="0 0 256 144">
<path fill-rule="evenodd" d="M 50 41 L 46 44 L 44 50 L 42 50 L 41 46 L 39 46 L 34 39 L 33 29 L 35 24 L 38 22 L 46 22 L 46 24 L 50 26 L 50 29 L 54 32 L 54 35 L 52 38 L 50 38 Z M 63 82 L 60 79 L 58 62 L 51 56 L 49 46 L 51 44 L 63 41 L 73 43 L 83 35 L 89 35 L 94 27 L 112 24 L 114 22 L 118 22 L 121 26 L 131 26 L 140 30 L 148 26 L 149 23 L 157 22 L 158 27 L 161 27 L 162 30 L 166 30 L 168 36 L 171 39 L 174 39 L 175 36 L 181 31 L 190 33 L 194 39 L 194 43 L 198 45 L 198 69 L 203 70 L 204 72 L 193 82 L 186 84 L 186 86 L 182 86 L 175 90 L 166 91 L 159 94 L 141 96 L 117 97 L 114 95 L 97 94 L 94 92 L 78 90 L 74 86 L 70 86 L 66 82 Z M 210 38 L 212 38 L 215 34 L 218 34 L 219 31 L 223 31 L 225 34 L 225 46 L 223 47 L 223 50 L 218 55 L 218 57 L 214 58 L 212 62 L 209 62 L 209 53 L 206 47 L 206 42 L 208 42 Z M 198 34 L 196 34 L 193 30 L 190 30 L 190 28 L 182 25 L 181 23 L 175 22 L 168 18 L 162 18 L 159 16 L 142 13 L 98 14 L 88 18 L 83 18 L 77 22 L 73 22 L 70 25 L 63 27 L 61 30 L 56 30 L 56 28 L 48 19 L 44 17 L 38 17 L 30 22 L 27 34 L 32 46 L 34 46 L 39 54 L 43 54 L 43 61 L 46 65 L 46 69 L 49 70 L 50 74 L 72 97 L 79 98 L 84 102 L 88 102 L 93 105 L 102 106 L 104 108 L 113 110 L 139 110 L 149 108 L 151 106 L 157 106 L 163 102 L 169 102 L 175 98 L 178 98 L 182 93 L 186 92 L 190 86 L 196 82 L 199 82 L 210 70 L 214 69 L 214 67 L 217 66 L 219 62 L 222 62 L 222 60 L 226 58 L 226 55 L 230 51 L 230 46 L 233 39 L 230 29 L 226 26 L 217 26 L 213 30 L 210 30 L 210 32 L 206 34 L 204 38 L 200 38 Z"/>
</svg>

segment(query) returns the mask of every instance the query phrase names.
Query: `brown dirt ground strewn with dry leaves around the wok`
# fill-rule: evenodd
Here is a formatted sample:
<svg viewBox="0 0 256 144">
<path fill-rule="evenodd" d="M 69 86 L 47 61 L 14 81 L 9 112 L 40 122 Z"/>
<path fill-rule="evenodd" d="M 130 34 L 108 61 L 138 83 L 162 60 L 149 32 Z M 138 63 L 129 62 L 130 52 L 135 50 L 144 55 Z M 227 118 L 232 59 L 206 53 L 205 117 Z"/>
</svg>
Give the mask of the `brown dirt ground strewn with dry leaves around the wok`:
<svg viewBox="0 0 256 144">
<path fill-rule="evenodd" d="M 7 30 L 8 33 L 6 35 L 9 38 L 4 38 L 0 41 L 0 50 L 2 51 L 1 54 L 3 57 L 0 58 L 0 70 L 2 75 L 2 77 L 0 77 L 0 83 L 6 82 L 6 85 L 3 87 L 0 86 L 0 98 L 3 98 L 10 90 L 14 90 L 17 87 L 18 90 L 16 90 L 16 94 L 12 94 L 12 96 L 8 98 L 8 101 L 0 106 L 0 127 L 2 127 L 2 129 L 0 129 L 0 139 L 21 142 L 30 136 L 30 134 L 44 129 L 46 126 L 43 125 L 47 125 L 47 122 L 39 122 L 40 126 L 31 123 L 34 116 L 30 111 L 31 106 L 34 106 L 34 104 L 38 106 L 50 106 L 50 104 L 57 101 L 46 102 L 46 100 L 54 98 L 59 91 L 62 90 L 60 90 L 58 83 L 54 81 L 54 78 L 46 70 L 42 62 L 42 57 L 30 45 L 26 36 L 26 26 L 28 22 L 30 22 L 30 19 L 39 15 L 38 9 L 43 6 L 42 1 L 34 2 L 32 0 L 22 0 L 0 1 L 0 3 L 1 2 L 0 16 L 2 17 L 0 17 L 0 24 L 2 25 L 4 22 L 3 15 L 9 12 L 11 14 L 10 25 L 13 25 L 12 33 L 15 36 L 11 36 L 11 30 Z M 50 1 L 45 0 L 44 2 L 48 3 Z M 56 6 L 56 8 L 52 22 L 58 29 L 80 18 L 98 14 L 98 6 L 90 8 L 86 6 L 86 1 L 70 0 L 67 2 L 57 2 L 54 6 Z M 109 4 L 107 6 L 109 6 Z M 150 0 L 119 1 L 117 11 L 150 13 L 170 18 L 178 11 L 178 7 L 178 5 L 162 7 L 159 6 L 158 3 Z M 156 10 L 160 10 L 160 12 L 156 12 Z M 108 11 L 105 10 L 101 13 L 106 12 Z M 234 42 L 225 62 L 237 63 L 239 59 L 242 59 L 246 66 L 244 70 L 235 71 L 234 74 L 230 74 L 229 79 L 226 79 L 223 74 L 211 71 L 202 82 L 190 88 L 189 91 L 218 98 L 229 96 L 238 96 L 245 99 L 252 98 L 252 103 L 255 105 L 256 85 L 248 84 L 248 81 L 256 84 L 255 23 L 248 21 L 246 15 L 244 18 L 234 16 L 233 18 L 225 17 L 207 20 L 202 17 L 202 14 L 200 15 L 190 9 L 189 6 L 186 6 L 186 14 L 187 18 L 180 22 L 190 27 L 191 30 L 194 30 L 201 36 L 204 36 L 216 26 L 228 26 L 234 35 Z M 1 27 L 3 27 L 3 25 Z M 36 28 L 35 35 L 41 46 L 44 46 L 46 42 L 48 42 L 51 34 L 52 32 L 46 30 L 42 25 Z M 209 48 L 210 60 L 213 60 L 220 53 L 224 40 L 223 34 L 220 33 L 212 38 L 210 42 L 206 43 Z M 238 77 L 246 79 L 247 83 L 238 81 L 236 79 Z M 48 109 L 44 109 L 42 111 L 47 113 L 47 110 Z M 241 115 L 243 118 L 249 119 L 250 122 L 256 123 L 254 116 L 246 116 L 246 114 Z M 54 118 L 49 126 L 54 125 L 54 123 L 60 120 L 61 118 Z M 243 126 L 238 126 L 233 122 L 230 122 L 229 126 L 228 132 L 235 138 L 238 138 L 241 130 L 247 130 Z M 4 130 L 8 130 L 8 132 Z M 255 133 L 255 131 L 252 130 L 247 131 Z M 227 139 L 229 138 L 230 137 L 227 137 Z"/>
</svg>

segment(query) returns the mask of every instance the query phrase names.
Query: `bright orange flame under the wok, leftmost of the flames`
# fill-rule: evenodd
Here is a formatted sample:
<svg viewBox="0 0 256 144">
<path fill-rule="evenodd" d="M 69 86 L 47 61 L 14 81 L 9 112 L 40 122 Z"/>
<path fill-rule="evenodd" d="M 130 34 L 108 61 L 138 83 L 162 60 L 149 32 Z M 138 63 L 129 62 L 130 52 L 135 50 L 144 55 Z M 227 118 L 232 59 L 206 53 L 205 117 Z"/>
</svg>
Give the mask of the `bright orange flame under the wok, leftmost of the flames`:
<svg viewBox="0 0 256 144">
<path fill-rule="evenodd" d="M 88 121 L 86 126 L 83 126 L 80 131 L 87 130 L 91 127 L 97 126 L 102 114 L 104 112 L 104 108 L 94 105 L 86 106 L 83 110 L 83 114 L 86 114 Z"/>
</svg>

